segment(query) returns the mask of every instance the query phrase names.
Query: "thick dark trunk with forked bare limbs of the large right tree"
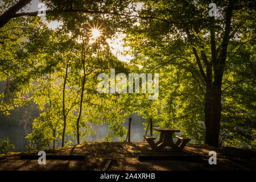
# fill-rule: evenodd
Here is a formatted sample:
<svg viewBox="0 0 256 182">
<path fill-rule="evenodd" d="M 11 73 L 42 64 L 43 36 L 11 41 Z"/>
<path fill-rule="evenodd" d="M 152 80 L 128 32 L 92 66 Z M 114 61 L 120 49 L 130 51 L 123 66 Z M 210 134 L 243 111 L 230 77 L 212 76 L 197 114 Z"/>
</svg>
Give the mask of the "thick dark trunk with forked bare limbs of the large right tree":
<svg viewBox="0 0 256 182">
<path fill-rule="evenodd" d="M 186 33 L 191 42 L 193 48 L 193 54 L 196 57 L 196 62 L 201 73 L 202 80 L 205 84 L 205 97 L 204 97 L 204 114 L 205 114 L 205 144 L 209 144 L 214 147 L 218 147 L 218 139 L 220 134 L 220 122 L 221 122 L 221 86 L 222 77 L 224 73 L 226 53 L 229 44 L 230 23 L 233 10 L 233 1 L 229 1 L 229 5 L 225 10 L 225 29 L 222 35 L 221 46 L 216 50 L 216 39 L 214 31 L 214 17 L 209 17 L 210 21 L 210 48 L 211 48 L 211 60 L 207 59 L 207 55 L 203 50 L 200 52 L 201 57 L 197 53 L 195 39 L 192 38 L 188 28 Z M 206 74 L 204 72 L 201 60 L 206 68 Z M 214 75 L 214 76 L 213 76 Z"/>
</svg>

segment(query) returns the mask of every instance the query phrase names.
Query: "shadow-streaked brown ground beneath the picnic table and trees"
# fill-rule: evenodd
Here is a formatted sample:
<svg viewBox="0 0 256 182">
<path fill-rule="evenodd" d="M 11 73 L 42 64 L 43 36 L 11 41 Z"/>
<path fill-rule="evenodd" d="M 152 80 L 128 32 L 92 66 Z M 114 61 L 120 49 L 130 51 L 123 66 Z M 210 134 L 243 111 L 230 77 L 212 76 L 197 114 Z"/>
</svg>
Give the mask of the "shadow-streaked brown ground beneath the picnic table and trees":
<svg viewBox="0 0 256 182">
<path fill-rule="evenodd" d="M 84 155 L 85 160 L 49 159 L 39 165 L 36 159 L 21 159 L 22 154 L 37 155 L 38 151 L 11 152 L 0 155 L 0 170 L 256 170 L 256 151 L 232 147 L 189 144 L 183 152 L 175 152 L 168 147 L 152 151 L 147 142 L 92 142 L 45 151 L 47 155 Z M 209 151 L 217 152 L 216 165 L 208 163 Z M 138 160 L 138 155 L 200 155 L 201 159 Z"/>
</svg>

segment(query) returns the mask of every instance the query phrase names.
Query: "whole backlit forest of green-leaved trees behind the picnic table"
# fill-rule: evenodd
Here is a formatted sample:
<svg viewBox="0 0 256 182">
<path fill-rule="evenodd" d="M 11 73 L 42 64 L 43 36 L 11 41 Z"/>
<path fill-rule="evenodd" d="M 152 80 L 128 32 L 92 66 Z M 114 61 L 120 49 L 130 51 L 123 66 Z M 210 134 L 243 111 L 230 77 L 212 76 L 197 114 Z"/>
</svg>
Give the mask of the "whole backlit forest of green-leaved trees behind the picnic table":
<svg viewBox="0 0 256 182">
<path fill-rule="evenodd" d="M 193 143 L 255 150 L 254 1 L 217 1 L 209 16 L 210 1 L 46 0 L 46 17 L 24 11 L 30 2 L 0 3 L 0 110 L 31 119 L 28 149 L 81 143 L 92 124 L 108 123 L 104 140 L 123 140 L 123 123 L 138 113 Z M 121 33 L 129 63 L 108 42 Z M 159 73 L 159 97 L 98 93 L 110 69 Z"/>
</svg>

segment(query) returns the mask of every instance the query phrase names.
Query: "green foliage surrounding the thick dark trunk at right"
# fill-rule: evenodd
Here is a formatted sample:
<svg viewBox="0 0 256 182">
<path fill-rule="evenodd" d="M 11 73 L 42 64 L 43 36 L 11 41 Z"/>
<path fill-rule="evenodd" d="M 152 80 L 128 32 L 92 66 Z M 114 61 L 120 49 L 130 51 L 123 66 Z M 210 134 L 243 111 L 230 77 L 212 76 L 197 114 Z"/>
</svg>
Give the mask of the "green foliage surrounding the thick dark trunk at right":
<svg viewBox="0 0 256 182">
<path fill-rule="evenodd" d="M 209 31 L 213 24 L 208 16 L 209 2 L 143 2 L 139 15 L 157 18 L 139 19 L 139 24 L 130 27 L 127 46 L 132 48 L 134 55 L 132 64 L 141 65 L 142 72 L 160 73 L 161 102 L 147 104 L 140 98 L 138 112 L 146 118 L 155 117 L 155 126 L 179 127 L 184 135 L 192 138 L 192 142 L 202 143 L 205 138 L 205 82 L 192 47 L 199 56 L 205 52 L 210 61 Z M 255 26 L 252 26 L 255 19 L 251 19 L 255 10 L 248 6 L 251 2 L 243 3 L 241 9 L 236 4 L 232 16 L 222 79 L 220 144 L 255 149 Z M 221 7 L 219 13 L 222 16 L 216 17 L 214 31 L 216 47 L 220 48 L 225 30 L 224 9 L 228 1 L 218 2 L 217 6 Z M 191 39 L 188 39 L 188 31 Z M 202 57 L 199 59 L 205 72 L 207 65 Z M 156 108 L 160 109 L 159 114 L 150 116 L 150 110 Z"/>
</svg>

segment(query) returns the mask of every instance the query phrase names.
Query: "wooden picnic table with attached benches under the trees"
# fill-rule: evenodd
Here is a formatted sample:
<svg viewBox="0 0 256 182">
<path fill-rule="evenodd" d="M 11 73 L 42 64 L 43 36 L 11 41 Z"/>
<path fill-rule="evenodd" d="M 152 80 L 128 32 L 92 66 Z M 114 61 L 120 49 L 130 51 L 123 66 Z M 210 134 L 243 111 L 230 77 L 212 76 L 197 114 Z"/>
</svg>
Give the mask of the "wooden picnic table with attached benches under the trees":
<svg viewBox="0 0 256 182">
<path fill-rule="evenodd" d="M 175 132 L 180 132 L 180 130 L 176 130 L 168 127 L 153 127 L 153 129 L 160 132 L 160 138 L 158 141 L 154 142 L 155 138 L 152 137 L 151 135 L 144 136 L 148 144 L 150 144 L 152 150 L 159 150 L 166 146 L 170 146 L 174 148 L 174 150 L 181 151 L 190 140 L 189 138 L 176 135 L 177 141 L 174 143 L 172 135 Z"/>
</svg>

